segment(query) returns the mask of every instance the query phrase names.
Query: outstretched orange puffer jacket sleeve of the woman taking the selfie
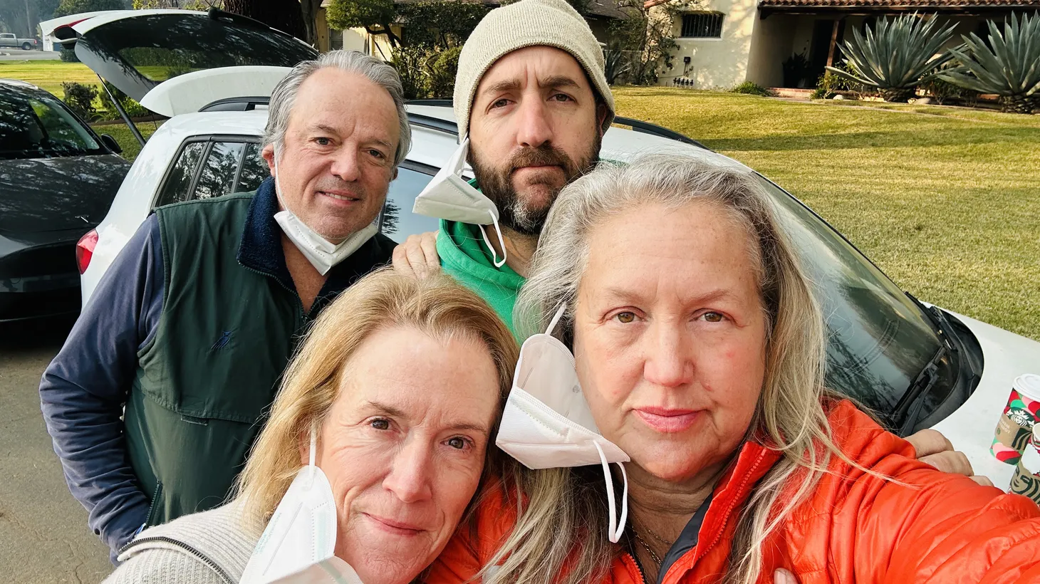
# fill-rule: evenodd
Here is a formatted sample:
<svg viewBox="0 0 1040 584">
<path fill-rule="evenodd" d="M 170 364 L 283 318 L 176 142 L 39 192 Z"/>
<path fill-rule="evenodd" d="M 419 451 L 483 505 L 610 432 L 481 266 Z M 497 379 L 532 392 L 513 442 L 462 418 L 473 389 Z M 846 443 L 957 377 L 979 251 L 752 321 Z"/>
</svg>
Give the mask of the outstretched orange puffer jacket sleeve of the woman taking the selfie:
<svg viewBox="0 0 1040 584">
<path fill-rule="evenodd" d="M 829 536 L 830 567 L 842 582 L 1040 582 L 1040 508 L 1032 500 L 942 473 L 862 413 L 838 412 L 835 440 L 850 458 L 821 481 L 804 536 Z M 830 512 L 827 512 L 830 509 Z M 820 515 L 816 515 L 818 517 Z"/>
</svg>

